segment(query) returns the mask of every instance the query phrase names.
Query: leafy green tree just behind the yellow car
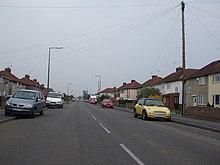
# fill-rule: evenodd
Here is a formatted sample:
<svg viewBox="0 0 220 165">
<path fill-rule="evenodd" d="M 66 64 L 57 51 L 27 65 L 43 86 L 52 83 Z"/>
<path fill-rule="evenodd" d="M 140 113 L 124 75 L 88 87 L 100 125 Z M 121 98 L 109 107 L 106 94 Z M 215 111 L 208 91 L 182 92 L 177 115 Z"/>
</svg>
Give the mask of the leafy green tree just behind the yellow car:
<svg viewBox="0 0 220 165">
<path fill-rule="evenodd" d="M 141 93 L 137 96 L 137 99 L 158 96 L 161 96 L 161 92 L 159 89 L 155 87 L 144 87 Z"/>
</svg>

